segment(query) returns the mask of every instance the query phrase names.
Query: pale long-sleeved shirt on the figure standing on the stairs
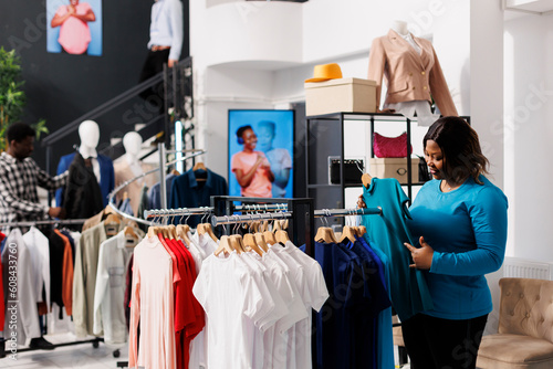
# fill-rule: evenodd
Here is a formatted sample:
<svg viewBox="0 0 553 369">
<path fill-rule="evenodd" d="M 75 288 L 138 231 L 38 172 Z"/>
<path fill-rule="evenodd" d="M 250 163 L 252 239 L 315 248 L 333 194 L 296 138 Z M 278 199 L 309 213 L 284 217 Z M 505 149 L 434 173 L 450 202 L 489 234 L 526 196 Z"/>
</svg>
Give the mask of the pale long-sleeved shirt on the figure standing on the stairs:
<svg viewBox="0 0 553 369">
<path fill-rule="evenodd" d="M 180 0 L 157 0 L 152 6 L 148 49 L 170 46 L 169 59 L 178 60 L 182 49 L 182 3 Z"/>
</svg>

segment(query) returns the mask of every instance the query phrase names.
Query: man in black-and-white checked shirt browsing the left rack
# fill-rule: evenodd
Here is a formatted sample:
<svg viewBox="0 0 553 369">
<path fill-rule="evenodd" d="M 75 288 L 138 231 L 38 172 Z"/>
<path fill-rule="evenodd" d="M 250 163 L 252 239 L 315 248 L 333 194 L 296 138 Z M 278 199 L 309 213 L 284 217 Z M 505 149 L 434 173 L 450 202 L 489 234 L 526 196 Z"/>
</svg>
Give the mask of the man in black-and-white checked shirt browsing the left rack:
<svg viewBox="0 0 553 369">
<path fill-rule="evenodd" d="M 67 172 L 50 177 L 30 158 L 34 129 L 24 123 L 8 127 L 8 151 L 0 155 L 0 222 L 63 218 L 62 208 L 39 203 L 36 187 L 55 190 L 65 184 Z"/>
</svg>

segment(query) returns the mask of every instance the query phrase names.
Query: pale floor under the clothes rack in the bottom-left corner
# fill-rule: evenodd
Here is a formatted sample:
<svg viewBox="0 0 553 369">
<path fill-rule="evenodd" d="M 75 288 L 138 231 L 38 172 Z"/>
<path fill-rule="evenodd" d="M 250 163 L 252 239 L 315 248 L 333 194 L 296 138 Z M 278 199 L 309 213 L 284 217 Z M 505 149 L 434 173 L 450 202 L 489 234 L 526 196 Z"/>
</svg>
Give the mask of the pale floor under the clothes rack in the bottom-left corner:
<svg viewBox="0 0 553 369">
<path fill-rule="evenodd" d="M 45 336 L 45 339 L 52 344 L 74 341 L 71 334 Z M 127 361 L 127 347 L 119 349 L 121 356 L 113 357 L 116 348 L 106 347 L 100 342 L 98 348 L 92 344 L 81 344 L 73 346 L 56 347 L 53 350 L 34 350 L 18 352 L 15 360 L 7 356 L 0 359 L 0 368 L 18 369 L 58 369 L 58 368 L 79 368 L 79 369 L 117 369 L 117 361 Z M 10 352 L 7 352 L 10 354 Z"/>
</svg>

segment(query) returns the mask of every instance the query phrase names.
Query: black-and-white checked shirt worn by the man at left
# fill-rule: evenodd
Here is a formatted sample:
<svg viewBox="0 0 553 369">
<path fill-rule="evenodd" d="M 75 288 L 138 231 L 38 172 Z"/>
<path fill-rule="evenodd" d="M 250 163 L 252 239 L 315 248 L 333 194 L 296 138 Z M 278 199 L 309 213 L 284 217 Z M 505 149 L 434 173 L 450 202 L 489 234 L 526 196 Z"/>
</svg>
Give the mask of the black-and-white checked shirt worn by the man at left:
<svg viewBox="0 0 553 369">
<path fill-rule="evenodd" d="M 31 158 L 0 155 L 0 222 L 38 220 L 50 207 L 39 203 L 36 186 L 54 190 L 65 184 L 67 172 L 51 177 Z"/>
</svg>

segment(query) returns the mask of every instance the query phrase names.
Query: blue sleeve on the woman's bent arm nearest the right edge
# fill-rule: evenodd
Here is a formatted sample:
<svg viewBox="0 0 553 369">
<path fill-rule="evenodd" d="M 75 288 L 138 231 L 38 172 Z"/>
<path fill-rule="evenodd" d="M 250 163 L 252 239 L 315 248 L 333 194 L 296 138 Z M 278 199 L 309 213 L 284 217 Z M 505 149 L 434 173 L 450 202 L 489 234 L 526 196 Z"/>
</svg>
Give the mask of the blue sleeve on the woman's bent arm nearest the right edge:
<svg viewBox="0 0 553 369">
<path fill-rule="evenodd" d="M 476 249 L 463 253 L 434 252 L 431 273 L 482 275 L 501 267 L 507 245 L 508 201 L 501 190 L 484 188 L 468 208 Z"/>
</svg>

